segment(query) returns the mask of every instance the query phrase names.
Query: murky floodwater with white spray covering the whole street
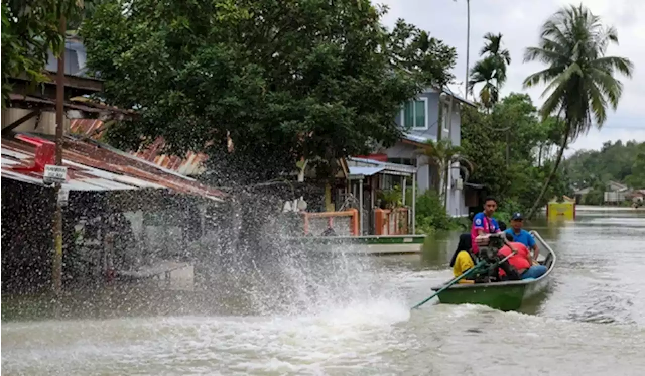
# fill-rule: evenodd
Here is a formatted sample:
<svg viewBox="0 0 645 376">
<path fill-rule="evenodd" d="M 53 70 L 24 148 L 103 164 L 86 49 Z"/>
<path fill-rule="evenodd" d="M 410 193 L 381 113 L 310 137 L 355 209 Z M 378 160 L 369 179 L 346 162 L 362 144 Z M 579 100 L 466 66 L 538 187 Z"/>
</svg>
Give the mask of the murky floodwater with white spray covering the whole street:
<svg viewBox="0 0 645 376">
<path fill-rule="evenodd" d="M 524 313 L 409 311 L 450 278 L 453 235 L 422 257 L 291 255 L 200 299 L 123 293 L 64 320 L 4 322 L 0 374 L 642 375 L 645 214 L 579 210 L 537 230 L 559 263 Z"/>
</svg>

